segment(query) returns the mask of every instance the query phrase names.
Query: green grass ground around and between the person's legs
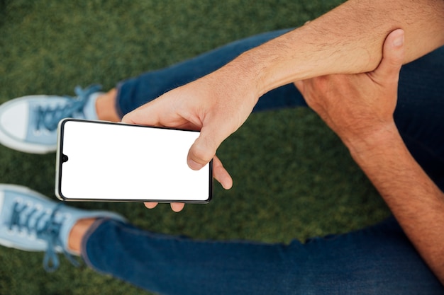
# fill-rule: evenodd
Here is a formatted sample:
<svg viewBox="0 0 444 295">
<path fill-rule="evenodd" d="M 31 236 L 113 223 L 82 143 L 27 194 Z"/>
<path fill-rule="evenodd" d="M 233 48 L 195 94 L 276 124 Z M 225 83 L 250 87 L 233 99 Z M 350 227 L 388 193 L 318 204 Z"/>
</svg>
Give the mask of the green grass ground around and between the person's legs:
<svg viewBox="0 0 444 295">
<path fill-rule="evenodd" d="M 0 0 L 0 103 L 117 81 L 255 33 L 303 24 L 340 0 Z M 297 50 L 297 48 L 295 49 Z M 119 212 L 143 229 L 194 238 L 284 242 L 341 233 L 389 214 L 347 149 L 309 109 L 254 114 L 218 151 L 235 185 L 207 205 L 77 203 Z M 0 146 L 0 182 L 53 197 L 55 155 Z M 0 248 L 0 294 L 145 294 L 61 257 Z M 148 294 L 148 293 L 146 293 Z"/>
</svg>

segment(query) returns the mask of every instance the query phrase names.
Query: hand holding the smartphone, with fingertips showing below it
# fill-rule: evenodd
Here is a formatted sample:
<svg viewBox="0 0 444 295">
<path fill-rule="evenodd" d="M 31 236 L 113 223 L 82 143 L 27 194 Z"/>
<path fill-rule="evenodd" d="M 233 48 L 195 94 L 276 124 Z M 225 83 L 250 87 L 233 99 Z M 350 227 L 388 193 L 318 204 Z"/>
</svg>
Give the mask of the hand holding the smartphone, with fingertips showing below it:
<svg viewBox="0 0 444 295">
<path fill-rule="evenodd" d="M 199 170 L 213 159 L 214 178 L 228 190 L 233 180 L 216 157 L 216 150 L 252 112 L 259 97 L 254 83 L 248 69 L 231 62 L 133 110 L 122 122 L 200 130 L 199 138 L 189 149 L 188 166 Z M 155 205 L 145 204 L 148 208 Z M 178 212 L 184 204 L 172 203 L 171 206 Z"/>
</svg>

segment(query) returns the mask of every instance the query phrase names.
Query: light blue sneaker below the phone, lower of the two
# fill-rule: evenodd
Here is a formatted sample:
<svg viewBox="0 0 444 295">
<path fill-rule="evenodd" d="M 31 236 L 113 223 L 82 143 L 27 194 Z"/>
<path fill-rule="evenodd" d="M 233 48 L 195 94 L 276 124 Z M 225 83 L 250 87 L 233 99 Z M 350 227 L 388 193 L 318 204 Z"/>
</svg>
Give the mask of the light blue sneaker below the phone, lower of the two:
<svg viewBox="0 0 444 295">
<path fill-rule="evenodd" d="M 0 245 L 28 251 L 43 251 L 43 267 L 57 269 L 58 252 L 73 263 L 71 254 L 78 254 L 68 245 L 72 229 L 84 220 L 123 217 L 106 211 L 87 211 L 54 202 L 38 192 L 19 185 L 0 184 Z"/>
</svg>

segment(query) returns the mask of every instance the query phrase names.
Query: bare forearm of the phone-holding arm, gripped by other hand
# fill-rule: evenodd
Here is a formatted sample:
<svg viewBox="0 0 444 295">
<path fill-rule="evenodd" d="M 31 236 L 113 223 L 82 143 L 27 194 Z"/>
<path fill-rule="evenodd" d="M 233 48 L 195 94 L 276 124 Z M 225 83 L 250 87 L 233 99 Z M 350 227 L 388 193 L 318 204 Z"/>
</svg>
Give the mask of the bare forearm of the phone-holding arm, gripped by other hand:
<svg viewBox="0 0 444 295">
<path fill-rule="evenodd" d="M 245 52 L 258 94 L 326 74 L 372 71 L 382 44 L 396 28 L 406 34 L 405 62 L 444 44 L 443 0 L 350 0 L 314 21 Z"/>
</svg>

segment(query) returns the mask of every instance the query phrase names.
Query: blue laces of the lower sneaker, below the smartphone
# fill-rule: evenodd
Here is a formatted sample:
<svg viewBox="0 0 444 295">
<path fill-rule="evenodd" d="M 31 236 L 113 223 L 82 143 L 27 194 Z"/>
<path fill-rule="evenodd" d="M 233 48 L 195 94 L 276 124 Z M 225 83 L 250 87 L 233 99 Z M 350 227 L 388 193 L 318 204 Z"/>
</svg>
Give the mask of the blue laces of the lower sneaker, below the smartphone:
<svg viewBox="0 0 444 295">
<path fill-rule="evenodd" d="M 60 240 L 60 229 L 64 219 L 56 220 L 55 216 L 62 204 L 57 204 L 52 212 L 35 207 L 30 208 L 30 206 L 30 204 L 18 201 L 14 203 L 9 230 L 16 230 L 21 234 L 27 233 L 30 237 L 34 236 L 46 241 L 48 247 L 43 258 L 43 267 L 47 272 L 53 272 L 59 267 L 60 261 L 57 257 L 59 248 L 72 265 L 78 267 L 79 262 L 65 250 Z"/>
</svg>

